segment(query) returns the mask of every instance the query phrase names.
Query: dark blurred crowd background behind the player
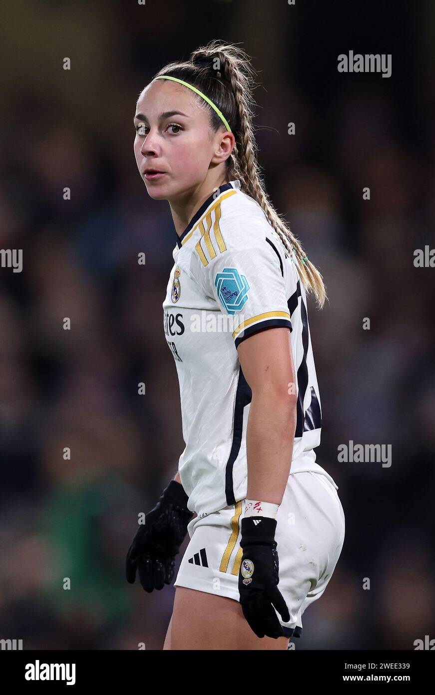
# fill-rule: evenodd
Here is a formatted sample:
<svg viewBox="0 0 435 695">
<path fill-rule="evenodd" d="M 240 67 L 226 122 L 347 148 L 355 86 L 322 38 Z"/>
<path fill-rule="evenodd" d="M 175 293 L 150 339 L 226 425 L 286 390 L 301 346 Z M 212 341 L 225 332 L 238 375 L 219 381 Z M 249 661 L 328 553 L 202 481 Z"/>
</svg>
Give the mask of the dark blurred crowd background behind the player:
<svg viewBox="0 0 435 695">
<path fill-rule="evenodd" d="M 175 589 L 132 587 L 124 562 L 184 448 L 162 324 L 176 236 L 133 115 L 160 67 L 219 38 L 253 57 L 266 188 L 329 295 L 309 300 L 317 460 L 346 539 L 293 641 L 434 638 L 435 268 L 413 264 L 435 247 L 434 3 L 17 0 L 0 18 L 0 247 L 23 250 L 22 272 L 0 268 L 0 637 L 163 646 Z M 391 54 L 391 77 L 340 74 L 350 50 Z M 390 444 L 392 465 L 339 463 L 350 440 Z"/>
</svg>

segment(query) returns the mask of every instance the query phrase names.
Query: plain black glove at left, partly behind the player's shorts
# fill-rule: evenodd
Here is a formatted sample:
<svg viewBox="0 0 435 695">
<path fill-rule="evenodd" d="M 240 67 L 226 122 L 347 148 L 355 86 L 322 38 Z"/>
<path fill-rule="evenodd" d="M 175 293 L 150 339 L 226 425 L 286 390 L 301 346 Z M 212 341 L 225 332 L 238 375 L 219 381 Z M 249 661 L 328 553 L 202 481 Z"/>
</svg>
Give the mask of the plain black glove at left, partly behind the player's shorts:
<svg viewBox="0 0 435 695">
<path fill-rule="evenodd" d="M 136 569 L 139 579 L 148 594 L 153 589 L 163 589 L 171 584 L 175 570 L 175 557 L 187 533 L 187 524 L 194 516 L 187 509 L 188 496 L 182 485 L 171 480 L 160 500 L 145 516 L 145 523 L 128 549 L 126 577 L 134 584 Z"/>
</svg>

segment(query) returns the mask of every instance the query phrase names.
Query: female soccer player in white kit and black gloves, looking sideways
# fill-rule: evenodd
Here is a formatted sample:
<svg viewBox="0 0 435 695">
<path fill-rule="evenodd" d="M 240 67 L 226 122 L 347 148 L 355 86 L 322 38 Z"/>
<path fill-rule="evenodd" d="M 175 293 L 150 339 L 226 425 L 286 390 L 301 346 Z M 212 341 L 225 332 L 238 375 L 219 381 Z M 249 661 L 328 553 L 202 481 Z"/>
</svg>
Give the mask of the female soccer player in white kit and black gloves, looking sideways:
<svg viewBox="0 0 435 695">
<path fill-rule="evenodd" d="M 176 229 L 164 332 L 186 446 L 126 574 L 162 589 L 189 533 L 164 649 L 289 648 L 343 546 L 337 486 L 314 452 L 306 291 L 323 306 L 325 288 L 259 176 L 254 74 L 244 51 L 215 40 L 137 101 L 137 167 Z"/>
</svg>

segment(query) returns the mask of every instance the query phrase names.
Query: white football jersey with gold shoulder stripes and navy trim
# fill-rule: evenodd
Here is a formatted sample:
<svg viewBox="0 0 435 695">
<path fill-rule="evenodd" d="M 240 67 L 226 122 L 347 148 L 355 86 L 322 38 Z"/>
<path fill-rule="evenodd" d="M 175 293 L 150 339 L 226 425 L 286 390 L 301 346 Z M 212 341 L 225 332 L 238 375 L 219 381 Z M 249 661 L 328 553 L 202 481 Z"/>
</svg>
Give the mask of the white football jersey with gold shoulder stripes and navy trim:
<svg viewBox="0 0 435 695">
<path fill-rule="evenodd" d="M 321 401 L 296 259 L 261 206 L 241 191 L 239 180 L 225 183 L 205 201 L 177 235 L 173 260 L 163 303 L 164 332 L 180 382 L 186 446 L 178 471 L 191 512 L 216 512 L 246 498 L 252 392 L 237 346 L 273 326 L 291 331 L 297 375 L 290 472 L 316 471 L 335 485 L 316 464 Z M 289 384 L 292 388 L 294 393 Z"/>
</svg>

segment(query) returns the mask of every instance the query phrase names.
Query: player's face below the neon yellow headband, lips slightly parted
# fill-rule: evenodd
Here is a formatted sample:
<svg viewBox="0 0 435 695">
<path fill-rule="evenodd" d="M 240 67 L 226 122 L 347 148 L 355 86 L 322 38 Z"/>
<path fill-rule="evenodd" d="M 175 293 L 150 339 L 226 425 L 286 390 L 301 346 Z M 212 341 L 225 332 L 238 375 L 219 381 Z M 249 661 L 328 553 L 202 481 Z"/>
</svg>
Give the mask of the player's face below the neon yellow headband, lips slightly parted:
<svg viewBox="0 0 435 695">
<path fill-rule="evenodd" d="M 216 143 L 219 147 L 219 133 L 212 132 L 207 111 L 190 91 L 178 83 L 157 80 L 137 101 L 135 157 L 154 199 L 175 201 L 195 190 L 207 176 Z M 147 169 L 164 173 L 147 177 Z"/>
</svg>

